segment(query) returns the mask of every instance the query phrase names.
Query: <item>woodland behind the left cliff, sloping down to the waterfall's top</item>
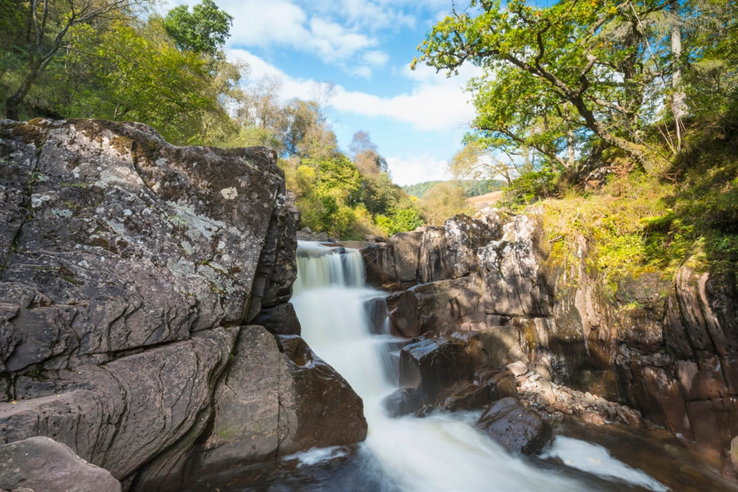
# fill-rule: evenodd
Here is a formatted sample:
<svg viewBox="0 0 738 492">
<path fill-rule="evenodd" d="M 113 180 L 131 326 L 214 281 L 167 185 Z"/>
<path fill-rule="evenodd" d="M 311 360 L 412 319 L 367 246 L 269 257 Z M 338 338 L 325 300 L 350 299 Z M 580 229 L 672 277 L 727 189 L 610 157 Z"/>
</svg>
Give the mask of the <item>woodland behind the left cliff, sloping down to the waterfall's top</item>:
<svg viewBox="0 0 738 492">
<path fill-rule="evenodd" d="M 340 149 L 326 118 L 331 83 L 310 100 L 283 100 L 278 78 L 251 80 L 248 66 L 230 63 L 232 17 L 212 0 L 165 15 L 154 7 L 1 0 L 0 112 L 143 122 L 175 145 L 273 148 L 303 226 L 332 238 L 392 235 L 465 207 L 455 186 L 410 198 L 366 131 Z"/>
</svg>

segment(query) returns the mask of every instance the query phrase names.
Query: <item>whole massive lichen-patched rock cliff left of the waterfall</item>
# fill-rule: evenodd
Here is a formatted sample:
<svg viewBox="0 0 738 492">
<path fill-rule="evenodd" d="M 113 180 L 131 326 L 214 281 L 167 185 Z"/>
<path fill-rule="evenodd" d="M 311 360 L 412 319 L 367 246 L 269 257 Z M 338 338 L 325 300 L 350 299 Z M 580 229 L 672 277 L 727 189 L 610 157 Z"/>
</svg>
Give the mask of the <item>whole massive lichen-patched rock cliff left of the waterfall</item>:
<svg viewBox="0 0 738 492">
<path fill-rule="evenodd" d="M 150 489 L 364 438 L 360 398 L 299 338 L 272 151 L 4 120 L 0 202 L 0 443 L 48 436 Z"/>
</svg>

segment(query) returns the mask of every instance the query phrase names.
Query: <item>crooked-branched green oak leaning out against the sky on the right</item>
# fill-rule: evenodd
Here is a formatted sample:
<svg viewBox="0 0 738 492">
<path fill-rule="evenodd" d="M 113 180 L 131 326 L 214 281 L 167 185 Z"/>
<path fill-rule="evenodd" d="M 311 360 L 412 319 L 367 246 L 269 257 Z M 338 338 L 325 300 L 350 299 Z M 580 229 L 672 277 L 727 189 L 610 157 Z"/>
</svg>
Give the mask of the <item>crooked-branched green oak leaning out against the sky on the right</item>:
<svg viewBox="0 0 738 492">
<path fill-rule="evenodd" d="M 595 137 L 646 165 L 658 159 L 642 139 L 658 101 L 644 103 L 658 100 L 668 75 L 663 49 L 653 50 L 669 46 L 649 44 L 655 30 L 646 20 L 668 4 L 563 0 L 537 8 L 510 0 L 503 8 L 472 0 L 433 28 L 414 63 L 449 73 L 466 61 L 486 69 L 469 89 L 475 128 L 491 143 L 517 142 L 569 165 L 576 136 L 580 146 Z"/>
</svg>

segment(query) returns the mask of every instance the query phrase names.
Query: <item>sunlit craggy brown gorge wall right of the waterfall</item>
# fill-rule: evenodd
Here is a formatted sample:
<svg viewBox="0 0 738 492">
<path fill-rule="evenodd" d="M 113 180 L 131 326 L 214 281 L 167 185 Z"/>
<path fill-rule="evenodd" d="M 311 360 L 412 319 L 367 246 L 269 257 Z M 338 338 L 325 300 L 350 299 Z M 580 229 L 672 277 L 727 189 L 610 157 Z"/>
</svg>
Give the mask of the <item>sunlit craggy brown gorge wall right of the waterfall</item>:
<svg viewBox="0 0 738 492">
<path fill-rule="evenodd" d="M 550 397 L 534 400 L 542 411 L 562 409 L 551 390 L 555 384 L 588 392 L 599 410 L 599 397 L 619 401 L 720 454 L 724 472 L 734 474 L 734 275 L 683 266 L 674 280 L 646 272 L 613 288 L 587 266 L 593 254 L 587 241 L 576 238 L 576 245 L 573 255 L 552 252 L 541 209 L 525 215 L 486 209 L 477 218 L 458 215 L 444 226 L 362 249 L 370 283 L 393 292 L 387 298 L 393 331 L 415 337 L 401 353 L 409 388 L 393 396 L 394 408 L 411 411 L 415 389 L 428 401 L 427 387 L 451 384 L 455 398 L 432 394 L 430 401 L 446 408 L 468 405 L 487 377 L 479 367 L 512 363 L 508 367 L 518 367 L 518 374 L 530 370 L 534 378 L 554 383 L 545 382 Z M 461 367 L 455 381 L 438 380 L 439 367 L 448 364 L 444 358 Z M 492 379 L 483 384 L 496 385 L 498 393 L 505 388 Z M 637 420 L 630 412 L 607 411 L 613 420 Z"/>
</svg>

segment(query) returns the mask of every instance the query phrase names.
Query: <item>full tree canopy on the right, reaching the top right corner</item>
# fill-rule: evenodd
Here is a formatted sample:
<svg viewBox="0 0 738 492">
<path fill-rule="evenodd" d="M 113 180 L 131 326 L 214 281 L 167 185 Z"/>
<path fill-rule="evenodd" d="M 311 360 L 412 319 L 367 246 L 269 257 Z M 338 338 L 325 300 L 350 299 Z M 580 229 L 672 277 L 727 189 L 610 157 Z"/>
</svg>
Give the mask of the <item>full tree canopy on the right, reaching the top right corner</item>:
<svg viewBox="0 0 738 492">
<path fill-rule="evenodd" d="M 472 0 L 433 27 L 414 63 L 484 69 L 468 87 L 469 151 L 578 173 L 596 148 L 615 148 L 653 167 L 675 159 L 703 105 L 734 107 L 737 18 L 734 2 L 710 0 Z M 665 145 L 649 140 L 654 128 Z"/>
</svg>

